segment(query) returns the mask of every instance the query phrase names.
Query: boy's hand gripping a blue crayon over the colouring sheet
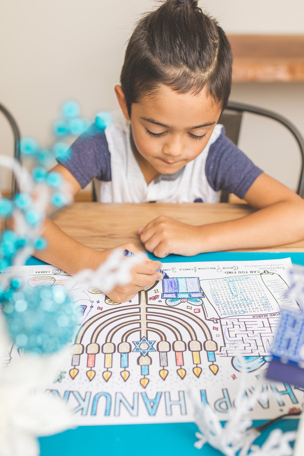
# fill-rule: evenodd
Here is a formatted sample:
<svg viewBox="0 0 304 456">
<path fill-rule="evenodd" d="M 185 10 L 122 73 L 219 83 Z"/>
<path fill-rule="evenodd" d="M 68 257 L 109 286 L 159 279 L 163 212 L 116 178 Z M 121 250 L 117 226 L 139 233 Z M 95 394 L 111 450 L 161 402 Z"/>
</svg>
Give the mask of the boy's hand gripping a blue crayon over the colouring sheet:
<svg viewBox="0 0 304 456">
<path fill-rule="evenodd" d="M 117 247 L 115 247 L 117 249 Z M 137 249 L 133 244 L 124 244 L 120 245 L 119 249 L 127 249 L 130 252 L 133 252 L 136 256 L 143 259 L 143 262 L 136 264 L 134 268 L 131 269 L 130 275 L 132 280 L 127 285 L 117 285 L 115 288 L 107 293 L 107 296 L 112 299 L 114 302 L 128 302 L 134 296 L 144 288 L 152 286 L 156 280 L 162 280 L 163 275 L 160 272 L 156 272 L 157 269 L 162 268 L 162 263 L 160 261 L 152 261 L 147 255 L 143 254 L 139 249 Z M 113 251 L 113 249 L 103 250 L 98 252 L 102 257 Z M 105 258 L 103 258 L 103 261 Z M 128 258 L 125 258 L 124 261 L 128 261 Z"/>
</svg>

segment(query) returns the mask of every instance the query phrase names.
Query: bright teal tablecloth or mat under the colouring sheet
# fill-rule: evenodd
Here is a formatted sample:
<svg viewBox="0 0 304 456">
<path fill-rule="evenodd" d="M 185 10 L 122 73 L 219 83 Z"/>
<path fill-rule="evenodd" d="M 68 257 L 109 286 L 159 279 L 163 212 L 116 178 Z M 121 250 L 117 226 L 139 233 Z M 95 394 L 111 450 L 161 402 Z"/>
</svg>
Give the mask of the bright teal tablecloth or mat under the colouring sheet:
<svg viewBox="0 0 304 456">
<path fill-rule="evenodd" d="M 294 264 L 304 265 L 302 253 L 260 253 L 260 252 L 216 252 L 200 254 L 194 257 L 170 255 L 162 259 L 163 263 L 176 261 L 229 261 L 229 260 L 261 260 L 291 257 Z M 149 255 L 155 259 L 153 255 Z M 43 264 L 31 258 L 26 264 Z M 255 421 L 254 425 L 262 421 Z M 261 444 L 274 427 L 284 431 L 295 430 L 298 420 L 281 420 L 272 428 L 263 432 L 255 443 Z M 220 455 L 219 451 L 205 445 L 197 450 L 193 444 L 197 440 L 198 431 L 194 423 L 151 424 L 151 425 L 112 425 L 112 426 L 80 426 L 50 437 L 41 437 L 41 456 L 155 456 L 166 455 Z"/>
</svg>

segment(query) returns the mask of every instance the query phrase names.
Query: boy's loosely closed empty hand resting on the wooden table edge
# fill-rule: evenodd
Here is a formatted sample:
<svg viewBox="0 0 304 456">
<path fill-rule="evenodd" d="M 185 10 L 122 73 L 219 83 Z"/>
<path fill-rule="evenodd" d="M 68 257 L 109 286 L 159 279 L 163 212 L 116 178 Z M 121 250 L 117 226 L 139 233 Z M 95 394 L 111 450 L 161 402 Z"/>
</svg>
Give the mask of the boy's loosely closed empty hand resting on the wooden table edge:
<svg viewBox="0 0 304 456">
<path fill-rule="evenodd" d="M 202 251 L 199 246 L 201 227 L 169 217 L 157 217 L 137 233 L 145 248 L 160 258 L 169 254 L 192 256 Z"/>
</svg>

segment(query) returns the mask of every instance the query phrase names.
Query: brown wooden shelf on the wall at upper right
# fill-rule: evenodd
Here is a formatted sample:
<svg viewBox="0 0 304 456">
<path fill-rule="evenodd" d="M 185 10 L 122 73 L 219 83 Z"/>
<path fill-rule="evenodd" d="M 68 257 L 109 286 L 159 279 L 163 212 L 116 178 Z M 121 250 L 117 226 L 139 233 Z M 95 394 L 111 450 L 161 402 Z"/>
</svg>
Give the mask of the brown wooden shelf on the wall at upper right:
<svg viewBox="0 0 304 456">
<path fill-rule="evenodd" d="M 304 82 L 304 35 L 229 35 L 233 82 Z"/>
</svg>

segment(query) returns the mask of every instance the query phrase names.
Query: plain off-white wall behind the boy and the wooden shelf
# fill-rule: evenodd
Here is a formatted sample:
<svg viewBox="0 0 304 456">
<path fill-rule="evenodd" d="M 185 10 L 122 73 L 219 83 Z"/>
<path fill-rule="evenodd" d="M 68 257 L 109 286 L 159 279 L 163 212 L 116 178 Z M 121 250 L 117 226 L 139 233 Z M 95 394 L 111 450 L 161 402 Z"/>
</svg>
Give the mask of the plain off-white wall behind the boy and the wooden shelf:
<svg viewBox="0 0 304 456">
<path fill-rule="evenodd" d="M 116 108 L 113 87 L 119 81 L 124 44 L 139 14 L 154 4 L 149 0 L 2 2 L 0 103 L 15 116 L 22 135 L 50 144 L 52 123 L 66 99 L 76 99 L 82 114 L 91 119 L 100 109 Z M 288 5 L 283 0 L 208 0 L 206 9 L 228 32 L 304 33 L 304 3 L 300 0 L 290 0 Z M 231 99 L 276 110 L 304 134 L 304 84 L 234 84 Z M 257 130 L 254 124 L 246 131 L 246 123 L 241 144 L 260 163 L 264 149 L 259 141 L 252 147 L 252 137 L 263 139 L 265 127 Z M 295 176 L 287 177 L 284 162 L 289 141 L 284 133 L 273 130 L 273 135 L 277 142 L 266 148 L 272 148 L 278 157 L 278 177 L 295 188 Z M 11 150 L 10 132 L 0 116 L 0 151 L 10 154 Z M 297 161 L 288 157 L 292 171 Z M 264 168 L 273 171 L 272 160 Z M 9 186 L 8 177 L 2 182 Z"/>
</svg>

